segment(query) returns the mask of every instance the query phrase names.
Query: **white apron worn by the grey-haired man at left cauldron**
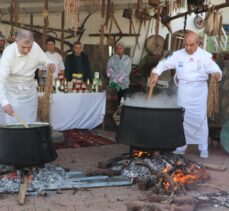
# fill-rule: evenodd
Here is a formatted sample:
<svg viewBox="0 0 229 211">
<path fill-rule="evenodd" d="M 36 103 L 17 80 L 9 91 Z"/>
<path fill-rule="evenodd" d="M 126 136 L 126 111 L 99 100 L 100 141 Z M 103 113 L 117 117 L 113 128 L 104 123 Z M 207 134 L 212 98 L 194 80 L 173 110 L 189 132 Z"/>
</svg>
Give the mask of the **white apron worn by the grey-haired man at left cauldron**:
<svg viewBox="0 0 229 211">
<path fill-rule="evenodd" d="M 6 83 L 6 97 L 14 111 L 27 123 L 37 120 L 38 96 L 33 76 L 11 75 Z M 18 122 L 5 115 L 6 123 Z"/>
</svg>

